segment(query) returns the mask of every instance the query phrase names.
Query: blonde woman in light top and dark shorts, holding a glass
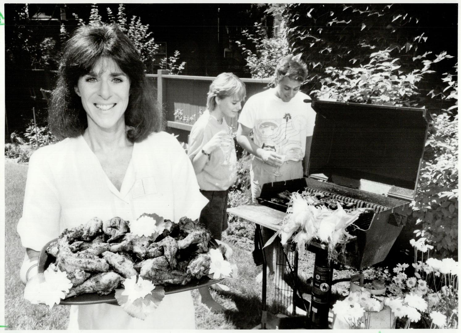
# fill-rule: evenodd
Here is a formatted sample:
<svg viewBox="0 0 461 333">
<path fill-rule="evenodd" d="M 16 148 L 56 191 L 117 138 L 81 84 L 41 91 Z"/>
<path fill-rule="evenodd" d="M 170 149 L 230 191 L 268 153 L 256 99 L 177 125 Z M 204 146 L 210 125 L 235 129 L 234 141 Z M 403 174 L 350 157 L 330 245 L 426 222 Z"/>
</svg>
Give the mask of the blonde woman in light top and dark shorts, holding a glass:
<svg viewBox="0 0 461 333">
<path fill-rule="evenodd" d="M 227 228 L 227 196 L 237 178 L 237 158 L 231 128 L 225 117 L 235 118 L 242 109 L 246 88 L 236 75 L 221 73 L 211 83 L 207 110 L 197 119 L 189 135 L 188 155 L 194 166 L 200 192 L 209 200 L 199 221 L 205 224 L 215 240 L 221 240 Z M 212 288 L 222 290 L 220 284 Z M 201 302 L 212 312 L 225 308 L 217 303 L 208 287 L 199 289 Z"/>
</svg>

